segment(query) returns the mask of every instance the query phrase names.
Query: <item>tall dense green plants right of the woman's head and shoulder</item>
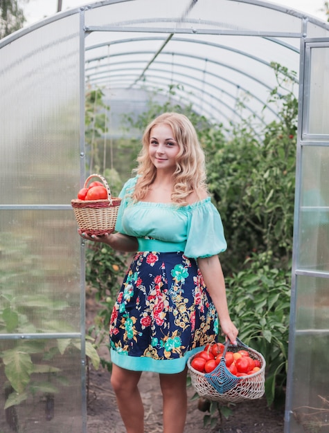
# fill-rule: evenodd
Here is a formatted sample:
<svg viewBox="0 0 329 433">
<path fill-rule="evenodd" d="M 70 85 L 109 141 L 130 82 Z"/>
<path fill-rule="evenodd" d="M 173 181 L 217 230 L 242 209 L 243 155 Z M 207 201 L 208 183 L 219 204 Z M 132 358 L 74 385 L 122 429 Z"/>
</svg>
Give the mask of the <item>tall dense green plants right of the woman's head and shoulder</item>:
<svg viewBox="0 0 329 433">
<path fill-rule="evenodd" d="M 297 101 L 287 86 L 287 71 L 273 65 L 278 86 L 269 103 L 280 102 L 274 121 L 256 140 L 247 122 L 224 141 L 206 136 L 208 183 L 222 216 L 228 250 L 225 273 L 238 270 L 253 251 L 270 251 L 276 266 L 288 268 L 292 254 Z M 282 77 L 281 77 L 282 76 Z M 288 84 L 289 83 L 289 84 Z"/>
</svg>

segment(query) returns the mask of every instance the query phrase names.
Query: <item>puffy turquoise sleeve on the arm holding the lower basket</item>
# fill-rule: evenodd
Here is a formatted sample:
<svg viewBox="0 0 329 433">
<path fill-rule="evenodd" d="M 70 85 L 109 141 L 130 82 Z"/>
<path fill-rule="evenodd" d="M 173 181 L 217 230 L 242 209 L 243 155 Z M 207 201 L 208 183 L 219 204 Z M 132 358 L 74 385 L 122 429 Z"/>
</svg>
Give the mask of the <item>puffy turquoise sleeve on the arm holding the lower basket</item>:
<svg viewBox="0 0 329 433">
<path fill-rule="evenodd" d="M 192 205 L 184 255 L 193 259 L 211 257 L 226 248 L 222 219 L 210 198 Z"/>
</svg>

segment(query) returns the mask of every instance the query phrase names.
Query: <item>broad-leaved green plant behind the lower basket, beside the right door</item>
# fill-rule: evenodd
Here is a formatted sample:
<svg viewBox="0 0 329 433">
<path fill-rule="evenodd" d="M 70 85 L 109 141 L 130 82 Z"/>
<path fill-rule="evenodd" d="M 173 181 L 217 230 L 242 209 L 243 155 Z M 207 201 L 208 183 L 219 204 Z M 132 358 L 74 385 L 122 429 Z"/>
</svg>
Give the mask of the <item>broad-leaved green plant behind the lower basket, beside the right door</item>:
<svg viewBox="0 0 329 433">
<path fill-rule="evenodd" d="M 252 254 L 242 270 L 226 277 L 227 301 L 244 344 L 265 358 L 268 405 L 280 403 L 287 374 L 290 271 L 271 266 L 268 252 Z M 281 402 L 282 403 L 282 402 Z"/>
</svg>

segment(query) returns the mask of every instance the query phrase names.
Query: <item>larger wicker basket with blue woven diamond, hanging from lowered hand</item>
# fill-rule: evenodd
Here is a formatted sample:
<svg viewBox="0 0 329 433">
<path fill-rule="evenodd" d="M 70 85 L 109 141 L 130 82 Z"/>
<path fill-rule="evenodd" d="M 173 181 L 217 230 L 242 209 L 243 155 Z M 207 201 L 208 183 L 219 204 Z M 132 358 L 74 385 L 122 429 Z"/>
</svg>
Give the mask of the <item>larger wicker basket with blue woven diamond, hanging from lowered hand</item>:
<svg viewBox="0 0 329 433">
<path fill-rule="evenodd" d="M 217 367 L 211 373 L 201 373 L 193 369 L 190 365 L 191 360 L 197 357 L 197 353 L 188 359 L 188 369 L 192 385 L 199 396 L 215 400 L 221 403 L 233 403 L 242 400 L 254 400 L 260 398 L 265 393 L 265 359 L 263 355 L 251 349 L 241 340 L 237 340 L 238 345 L 226 344 L 224 354 L 227 350 L 237 352 L 241 349 L 249 352 L 249 356 L 254 360 L 260 361 L 260 370 L 249 376 L 237 377 L 231 374 L 226 368 L 224 354 Z"/>
</svg>

